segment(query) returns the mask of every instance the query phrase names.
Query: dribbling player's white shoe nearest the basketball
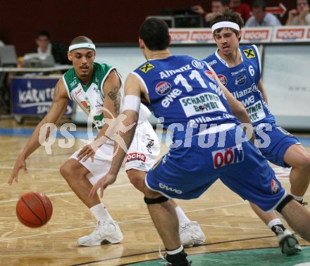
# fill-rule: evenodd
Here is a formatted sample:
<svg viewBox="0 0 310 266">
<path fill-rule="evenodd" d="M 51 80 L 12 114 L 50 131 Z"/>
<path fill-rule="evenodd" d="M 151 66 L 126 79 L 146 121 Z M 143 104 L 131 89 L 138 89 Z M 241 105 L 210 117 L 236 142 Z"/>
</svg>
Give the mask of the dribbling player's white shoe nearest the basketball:
<svg viewBox="0 0 310 266">
<path fill-rule="evenodd" d="M 98 221 L 97 227 L 92 234 L 82 236 L 77 239 L 80 246 L 100 246 L 109 243 L 119 243 L 123 240 L 118 223 L 111 220 L 109 222 Z"/>
</svg>

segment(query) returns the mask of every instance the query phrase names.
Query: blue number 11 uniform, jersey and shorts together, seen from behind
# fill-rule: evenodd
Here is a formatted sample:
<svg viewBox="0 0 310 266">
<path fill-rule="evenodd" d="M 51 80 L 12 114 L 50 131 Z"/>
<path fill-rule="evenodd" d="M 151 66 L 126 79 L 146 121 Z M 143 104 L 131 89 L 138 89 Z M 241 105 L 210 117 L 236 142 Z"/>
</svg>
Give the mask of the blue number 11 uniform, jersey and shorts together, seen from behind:
<svg viewBox="0 0 310 266">
<path fill-rule="evenodd" d="M 169 152 L 147 172 L 150 189 L 172 198 L 197 198 L 221 178 L 263 210 L 280 202 L 285 190 L 254 144 L 244 141 L 206 63 L 170 56 L 147 61 L 132 74 L 147 88 L 154 115 L 173 130 Z"/>
</svg>

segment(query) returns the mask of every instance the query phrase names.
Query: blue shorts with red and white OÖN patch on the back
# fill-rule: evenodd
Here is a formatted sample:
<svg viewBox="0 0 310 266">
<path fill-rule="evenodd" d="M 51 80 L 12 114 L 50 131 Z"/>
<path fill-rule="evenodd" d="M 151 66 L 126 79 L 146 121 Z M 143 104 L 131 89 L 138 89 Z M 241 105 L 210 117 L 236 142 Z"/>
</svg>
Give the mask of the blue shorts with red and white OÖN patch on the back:
<svg viewBox="0 0 310 266">
<path fill-rule="evenodd" d="M 286 192 L 254 144 L 236 141 L 240 135 L 244 136 L 242 129 L 234 124 L 227 132 L 206 134 L 205 139 L 215 140 L 207 148 L 202 145 L 202 135 L 195 135 L 190 147 L 170 148 L 149 170 L 145 183 L 168 198 L 191 199 L 201 196 L 219 178 L 244 200 L 262 210 L 273 210 Z"/>
</svg>

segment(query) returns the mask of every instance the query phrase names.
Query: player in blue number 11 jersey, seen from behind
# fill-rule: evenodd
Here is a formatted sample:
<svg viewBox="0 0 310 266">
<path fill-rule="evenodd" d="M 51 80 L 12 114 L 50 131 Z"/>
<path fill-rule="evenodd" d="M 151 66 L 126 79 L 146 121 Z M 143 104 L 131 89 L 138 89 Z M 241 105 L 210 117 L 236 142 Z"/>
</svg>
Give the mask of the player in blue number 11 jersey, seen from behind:
<svg viewBox="0 0 310 266">
<path fill-rule="evenodd" d="M 144 21 L 139 44 L 147 62 L 128 75 L 120 127 L 136 125 L 140 101 L 147 103 L 165 128 L 173 129 L 169 152 L 145 177 L 144 201 L 164 245 L 167 265 L 190 265 L 178 236 L 178 217 L 168 198 L 198 198 L 218 178 L 262 210 L 278 210 L 288 224 L 310 240 L 310 213 L 281 186 L 268 161 L 244 137 L 240 122 L 247 111 L 210 79 L 206 63 L 168 50 L 168 25 L 157 18 Z M 250 124 L 248 125 L 251 128 Z M 135 127 L 118 137 L 130 146 Z M 213 140 L 213 142 L 212 142 Z M 109 173 L 94 184 L 89 197 L 115 182 L 125 151 L 118 145 Z M 145 173 L 142 173 L 145 175 Z"/>
</svg>

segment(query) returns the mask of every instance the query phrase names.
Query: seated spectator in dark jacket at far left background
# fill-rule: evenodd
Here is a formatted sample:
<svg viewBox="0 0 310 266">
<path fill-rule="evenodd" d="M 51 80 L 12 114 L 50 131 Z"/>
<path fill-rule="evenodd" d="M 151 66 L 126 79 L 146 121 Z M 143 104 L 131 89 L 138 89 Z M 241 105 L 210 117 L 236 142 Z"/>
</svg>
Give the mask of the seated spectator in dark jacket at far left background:
<svg viewBox="0 0 310 266">
<path fill-rule="evenodd" d="M 60 42 L 51 41 L 51 35 L 46 30 L 41 30 L 37 33 L 35 43 L 37 44 L 36 53 L 44 56 L 49 56 L 51 54 L 57 64 L 71 64 L 68 60 L 68 47 Z"/>
</svg>

